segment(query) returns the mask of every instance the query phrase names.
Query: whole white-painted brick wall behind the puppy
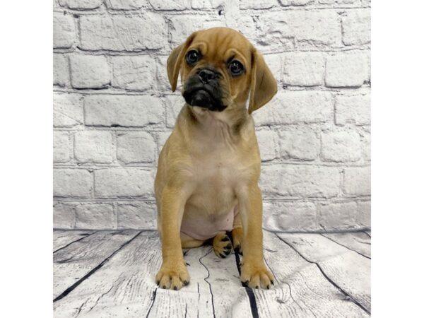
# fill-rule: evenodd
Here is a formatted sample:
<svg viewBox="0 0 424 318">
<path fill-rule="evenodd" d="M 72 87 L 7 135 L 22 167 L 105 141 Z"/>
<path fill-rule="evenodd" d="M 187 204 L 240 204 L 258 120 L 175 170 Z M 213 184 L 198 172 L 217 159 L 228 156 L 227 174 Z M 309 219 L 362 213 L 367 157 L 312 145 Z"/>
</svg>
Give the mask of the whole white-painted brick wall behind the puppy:
<svg viewBox="0 0 424 318">
<path fill-rule="evenodd" d="M 166 59 L 226 25 L 278 94 L 254 114 L 264 226 L 370 227 L 370 1 L 54 0 L 54 227 L 155 228 L 158 153 L 182 107 Z"/>
</svg>

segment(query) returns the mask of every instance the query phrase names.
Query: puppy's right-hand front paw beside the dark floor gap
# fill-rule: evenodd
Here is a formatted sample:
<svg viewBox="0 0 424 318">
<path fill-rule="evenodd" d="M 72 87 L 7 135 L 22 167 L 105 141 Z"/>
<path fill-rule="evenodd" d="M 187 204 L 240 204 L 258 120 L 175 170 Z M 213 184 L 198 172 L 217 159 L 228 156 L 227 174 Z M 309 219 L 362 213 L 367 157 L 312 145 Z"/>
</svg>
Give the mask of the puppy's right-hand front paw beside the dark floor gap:
<svg viewBox="0 0 424 318">
<path fill-rule="evenodd" d="M 273 285 L 273 274 L 264 262 L 242 261 L 240 280 L 250 288 L 271 288 Z"/>
</svg>

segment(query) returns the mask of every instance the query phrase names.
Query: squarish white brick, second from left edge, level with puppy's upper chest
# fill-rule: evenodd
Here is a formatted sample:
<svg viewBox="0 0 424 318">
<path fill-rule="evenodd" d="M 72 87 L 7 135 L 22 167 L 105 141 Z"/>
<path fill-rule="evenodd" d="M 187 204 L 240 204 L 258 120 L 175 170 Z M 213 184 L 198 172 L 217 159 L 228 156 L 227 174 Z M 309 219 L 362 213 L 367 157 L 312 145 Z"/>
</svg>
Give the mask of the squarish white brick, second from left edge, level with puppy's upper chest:
<svg viewBox="0 0 424 318">
<path fill-rule="evenodd" d="M 110 131 L 78 131 L 75 134 L 75 158 L 79 163 L 112 163 Z"/>
</svg>

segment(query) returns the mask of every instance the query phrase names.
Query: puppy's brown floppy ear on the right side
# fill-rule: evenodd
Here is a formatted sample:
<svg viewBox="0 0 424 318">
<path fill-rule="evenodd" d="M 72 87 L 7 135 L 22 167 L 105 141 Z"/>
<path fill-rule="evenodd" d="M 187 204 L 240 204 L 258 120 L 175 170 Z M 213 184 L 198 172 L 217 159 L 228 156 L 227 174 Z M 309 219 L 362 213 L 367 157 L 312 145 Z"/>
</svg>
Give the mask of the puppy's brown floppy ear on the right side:
<svg viewBox="0 0 424 318">
<path fill-rule="evenodd" d="M 277 81 L 261 53 L 252 47 L 252 75 L 250 78 L 249 114 L 258 110 L 277 93 Z"/>
</svg>

